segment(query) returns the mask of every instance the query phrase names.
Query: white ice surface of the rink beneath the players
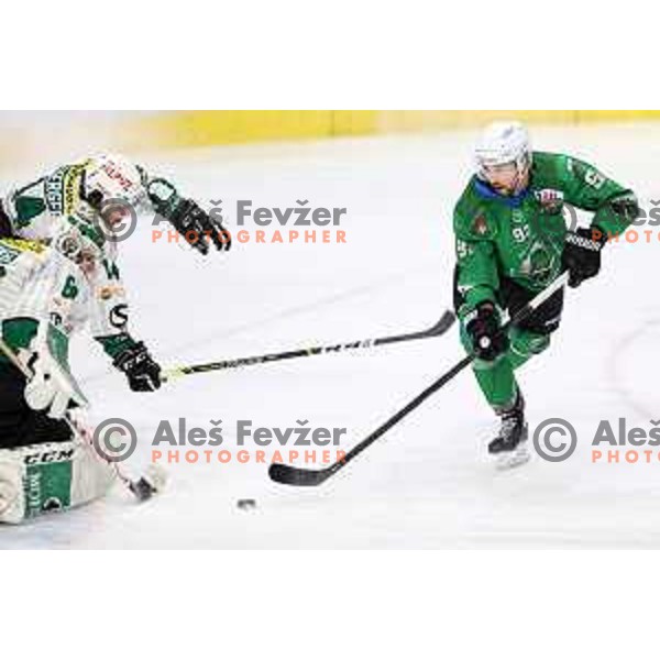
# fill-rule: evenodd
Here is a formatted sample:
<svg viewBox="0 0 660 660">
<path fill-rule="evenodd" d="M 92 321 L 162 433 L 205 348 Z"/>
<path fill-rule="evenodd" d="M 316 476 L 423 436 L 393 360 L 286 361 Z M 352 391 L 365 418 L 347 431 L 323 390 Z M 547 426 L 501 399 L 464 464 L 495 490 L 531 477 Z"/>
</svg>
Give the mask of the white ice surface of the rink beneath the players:
<svg viewBox="0 0 660 660">
<path fill-rule="evenodd" d="M 164 365 L 256 354 L 431 324 L 451 304 L 451 211 L 470 174 L 470 132 L 200 150 L 145 158 L 188 193 L 255 206 L 346 207 L 345 245 L 235 244 L 202 260 L 151 244 L 141 227 L 122 245 L 134 334 Z M 660 127 L 535 131 L 536 146 L 581 155 L 660 199 Z M 24 173 L 20 173 L 24 176 Z M 18 176 L 18 175 L 16 175 Z M 7 182 L 7 175 L 4 179 Z M 653 228 L 642 228 L 653 229 Z M 657 232 L 657 229 L 654 230 Z M 318 490 L 268 481 L 266 466 L 179 464 L 144 505 L 121 487 L 88 507 L 0 529 L 0 548 L 435 548 L 660 546 L 660 461 L 598 465 L 588 442 L 601 419 L 660 418 L 660 241 L 607 249 L 601 277 L 571 293 L 553 346 L 521 373 L 530 425 L 564 417 L 581 444 L 571 460 L 538 457 L 501 474 L 484 447 L 495 428 L 471 373 Z M 125 417 L 148 460 L 158 420 L 210 428 L 346 427 L 351 447 L 462 356 L 446 337 L 361 354 L 304 359 L 191 376 L 132 394 L 87 338 L 74 370 L 94 419 Z M 239 498 L 257 502 L 253 512 Z"/>
</svg>

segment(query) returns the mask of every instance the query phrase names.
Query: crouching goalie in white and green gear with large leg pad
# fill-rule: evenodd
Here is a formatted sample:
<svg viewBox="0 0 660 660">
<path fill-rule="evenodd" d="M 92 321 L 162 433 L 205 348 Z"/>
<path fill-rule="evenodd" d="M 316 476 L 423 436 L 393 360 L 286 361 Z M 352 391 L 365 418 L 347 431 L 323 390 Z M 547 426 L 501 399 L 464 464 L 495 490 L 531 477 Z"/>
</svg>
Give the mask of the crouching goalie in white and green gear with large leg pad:
<svg viewBox="0 0 660 660">
<path fill-rule="evenodd" d="M 117 479 L 70 419 L 88 406 L 69 367 L 70 337 L 87 324 L 92 334 L 118 324 L 116 295 L 108 290 L 117 279 L 107 260 L 64 220 L 50 245 L 0 239 L 0 522 L 84 504 Z M 121 328 L 100 339 L 116 346 L 130 340 Z M 132 343 L 114 360 L 130 378 L 155 364 Z M 124 369 L 131 360 L 132 370 Z"/>
</svg>

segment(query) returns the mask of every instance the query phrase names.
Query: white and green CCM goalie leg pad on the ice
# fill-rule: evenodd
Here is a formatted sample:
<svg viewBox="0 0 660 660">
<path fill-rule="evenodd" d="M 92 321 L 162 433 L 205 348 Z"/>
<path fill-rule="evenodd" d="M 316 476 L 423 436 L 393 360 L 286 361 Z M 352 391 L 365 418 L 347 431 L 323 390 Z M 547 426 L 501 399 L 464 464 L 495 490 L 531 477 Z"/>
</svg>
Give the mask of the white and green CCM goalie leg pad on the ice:
<svg viewBox="0 0 660 660">
<path fill-rule="evenodd" d="M 0 450 L 0 522 L 20 524 L 102 497 L 111 465 L 78 440 Z"/>
</svg>

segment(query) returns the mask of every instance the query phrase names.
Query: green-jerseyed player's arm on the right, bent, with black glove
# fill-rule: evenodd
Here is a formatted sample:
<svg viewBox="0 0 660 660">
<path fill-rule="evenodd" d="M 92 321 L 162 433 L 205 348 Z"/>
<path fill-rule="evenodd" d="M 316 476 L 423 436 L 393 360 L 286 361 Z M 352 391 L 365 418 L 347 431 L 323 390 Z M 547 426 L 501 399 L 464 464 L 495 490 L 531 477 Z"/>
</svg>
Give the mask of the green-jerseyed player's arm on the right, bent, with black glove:
<svg viewBox="0 0 660 660">
<path fill-rule="evenodd" d="M 606 177 L 588 163 L 571 156 L 557 157 L 557 174 L 564 200 L 594 213 L 590 228 L 576 228 L 565 237 L 562 255 L 570 273 L 569 285 L 576 287 L 601 270 L 601 250 L 639 217 L 632 190 Z"/>
</svg>

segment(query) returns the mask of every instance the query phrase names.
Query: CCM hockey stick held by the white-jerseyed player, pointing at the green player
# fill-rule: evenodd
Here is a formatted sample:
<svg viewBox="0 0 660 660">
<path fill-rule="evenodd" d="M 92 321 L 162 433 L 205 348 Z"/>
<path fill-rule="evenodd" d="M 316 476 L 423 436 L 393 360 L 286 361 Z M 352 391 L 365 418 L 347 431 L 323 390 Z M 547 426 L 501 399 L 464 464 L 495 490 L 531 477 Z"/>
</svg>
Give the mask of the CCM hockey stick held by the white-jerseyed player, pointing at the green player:
<svg viewBox="0 0 660 660">
<path fill-rule="evenodd" d="M 233 360 L 222 360 L 221 362 L 208 362 L 206 364 L 193 364 L 190 366 L 178 366 L 166 370 L 163 380 L 172 381 L 190 374 L 202 374 L 211 371 L 224 369 L 238 369 L 253 364 L 264 364 L 266 362 L 278 362 L 280 360 L 292 360 L 294 358 L 310 358 L 311 355 L 321 355 L 323 353 L 341 353 L 355 349 L 371 349 L 373 346 L 383 346 L 386 344 L 398 343 L 402 341 L 413 341 L 415 339 L 427 339 L 439 337 L 447 332 L 453 324 L 455 317 L 452 311 L 446 311 L 440 320 L 427 330 L 417 332 L 407 332 L 404 334 L 392 334 L 389 337 L 380 337 L 377 339 L 359 339 L 340 344 L 330 344 L 321 346 L 311 346 L 309 349 L 295 349 L 293 351 L 283 351 L 280 353 L 266 353 L 265 355 L 254 355 L 252 358 L 235 358 Z"/>
</svg>

